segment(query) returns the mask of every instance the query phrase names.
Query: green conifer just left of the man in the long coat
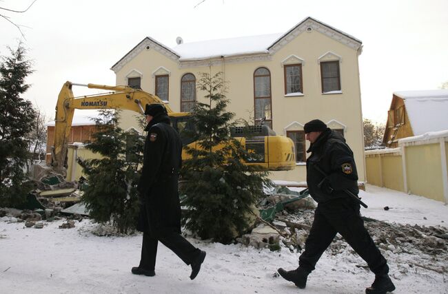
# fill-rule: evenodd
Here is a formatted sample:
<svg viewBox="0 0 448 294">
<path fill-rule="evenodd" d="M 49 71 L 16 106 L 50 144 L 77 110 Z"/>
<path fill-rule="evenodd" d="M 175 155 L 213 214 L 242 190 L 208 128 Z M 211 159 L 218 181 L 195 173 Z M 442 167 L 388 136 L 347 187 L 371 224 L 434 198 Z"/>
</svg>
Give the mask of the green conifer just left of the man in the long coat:
<svg viewBox="0 0 448 294">
<path fill-rule="evenodd" d="M 120 233 L 128 233 L 134 230 L 139 213 L 136 184 L 144 138 L 137 132 L 123 132 L 118 126 L 119 112 L 102 110 L 94 120 L 98 132 L 86 148 L 102 158 L 82 163 L 88 187 L 81 200 L 91 218 L 111 221 Z"/>
</svg>

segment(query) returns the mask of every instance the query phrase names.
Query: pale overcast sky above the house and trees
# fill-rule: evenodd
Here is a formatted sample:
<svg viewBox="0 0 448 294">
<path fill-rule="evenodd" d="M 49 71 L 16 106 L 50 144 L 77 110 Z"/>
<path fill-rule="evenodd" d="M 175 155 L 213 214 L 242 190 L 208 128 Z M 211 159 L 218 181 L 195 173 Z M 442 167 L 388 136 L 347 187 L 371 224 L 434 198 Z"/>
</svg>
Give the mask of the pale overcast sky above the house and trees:
<svg viewBox="0 0 448 294">
<path fill-rule="evenodd" d="M 173 48 L 235 36 L 284 33 L 313 17 L 363 42 L 363 117 L 385 123 L 392 93 L 438 89 L 448 81 L 447 0 L 37 0 L 0 14 L 0 54 L 28 48 L 35 72 L 24 95 L 48 117 L 65 81 L 114 85 L 110 67 L 145 36 Z M 32 0 L 0 0 L 22 10 Z M 87 94 L 76 88 L 74 94 Z M 347 114 L 349 115 L 349 114 Z"/>
</svg>

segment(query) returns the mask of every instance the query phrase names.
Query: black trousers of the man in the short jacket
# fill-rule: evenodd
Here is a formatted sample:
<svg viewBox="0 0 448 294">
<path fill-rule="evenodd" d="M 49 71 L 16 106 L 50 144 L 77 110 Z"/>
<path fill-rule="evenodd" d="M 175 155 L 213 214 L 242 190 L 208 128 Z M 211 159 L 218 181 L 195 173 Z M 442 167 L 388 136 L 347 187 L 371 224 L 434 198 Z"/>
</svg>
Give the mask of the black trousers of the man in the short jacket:
<svg viewBox="0 0 448 294">
<path fill-rule="evenodd" d="M 299 266 L 306 271 L 313 271 L 336 233 L 340 233 L 375 275 L 389 273 L 387 261 L 365 229 L 359 209 L 358 203 L 346 198 L 319 203 L 305 242 L 305 251 L 298 258 Z"/>
</svg>

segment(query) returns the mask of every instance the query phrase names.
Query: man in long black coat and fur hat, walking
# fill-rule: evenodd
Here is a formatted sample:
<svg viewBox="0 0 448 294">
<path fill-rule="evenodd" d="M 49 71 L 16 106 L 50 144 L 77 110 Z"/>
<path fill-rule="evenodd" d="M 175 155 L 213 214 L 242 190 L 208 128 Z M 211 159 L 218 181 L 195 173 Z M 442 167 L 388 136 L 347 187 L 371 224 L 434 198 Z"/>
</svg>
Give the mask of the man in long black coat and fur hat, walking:
<svg viewBox="0 0 448 294">
<path fill-rule="evenodd" d="M 181 204 L 178 180 L 182 163 L 182 143 L 170 125 L 166 109 L 160 104 L 145 107 L 147 138 L 143 169 L 137 189 L 141 211 L 137 229 L 143 232 L 141 260 L 132 268 L 135 275 L 155 275 L 157 244 L 162 242 L 185 264 L 192 266 L 193 280 L 201 269 L 205 251 L 195 248 L 181 235 Z"/>
</svg>

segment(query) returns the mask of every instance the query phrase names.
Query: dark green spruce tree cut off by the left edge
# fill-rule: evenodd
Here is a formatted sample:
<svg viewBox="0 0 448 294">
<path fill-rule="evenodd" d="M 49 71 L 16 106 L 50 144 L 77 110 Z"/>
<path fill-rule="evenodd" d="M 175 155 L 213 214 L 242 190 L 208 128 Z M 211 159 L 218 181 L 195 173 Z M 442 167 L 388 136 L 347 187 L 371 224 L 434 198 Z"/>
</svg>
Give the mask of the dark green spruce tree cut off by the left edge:
<svg viewBox="0 0 448 294">
<path fill-rule="evenodd" d="M 32 73 L 26 49 L 19 43 L 0 62 L 0 206 L 19 207 L 32 187 L 24 173 L 30 159 L 28 134 L 36 113 L 30 101 L 21 97 L 30 87 Z"/>
</svg>

